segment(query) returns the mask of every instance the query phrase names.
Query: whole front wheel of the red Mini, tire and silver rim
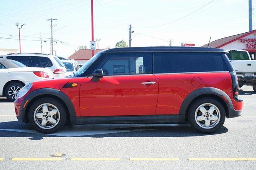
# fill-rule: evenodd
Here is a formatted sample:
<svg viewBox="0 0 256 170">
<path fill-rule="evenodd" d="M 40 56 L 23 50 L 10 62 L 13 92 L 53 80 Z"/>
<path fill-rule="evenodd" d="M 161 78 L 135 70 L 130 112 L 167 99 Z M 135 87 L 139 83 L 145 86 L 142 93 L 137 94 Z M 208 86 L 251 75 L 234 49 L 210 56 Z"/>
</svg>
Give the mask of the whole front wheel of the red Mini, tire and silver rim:
<svg viewBox="0 0 256 170">
<path fill-rule="evenodd" d="M 28 113 L 32 127 L 40 133 L 54 133 L 66 123 L 65 105 L 57 99 L 44 97 L 35 101 Z"/>
</svg>

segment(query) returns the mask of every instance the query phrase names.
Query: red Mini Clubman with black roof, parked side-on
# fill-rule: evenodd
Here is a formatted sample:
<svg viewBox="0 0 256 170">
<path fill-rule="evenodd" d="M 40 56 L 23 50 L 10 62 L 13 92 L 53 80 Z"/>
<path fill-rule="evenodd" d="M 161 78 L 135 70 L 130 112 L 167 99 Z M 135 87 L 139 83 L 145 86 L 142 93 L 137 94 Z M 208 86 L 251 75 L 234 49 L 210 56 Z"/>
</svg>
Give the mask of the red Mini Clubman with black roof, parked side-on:
<svg viewBox="0 0 256 170">
<path fill-rule="evenodd" d="M 24 86 L 19 121 L 42 133 L 71 125 L 189 122 L 212 133 L 241 115 L 228 51 L 202 47 L 131 47 L 100 51 L 73 77 Z"/>
</svg>

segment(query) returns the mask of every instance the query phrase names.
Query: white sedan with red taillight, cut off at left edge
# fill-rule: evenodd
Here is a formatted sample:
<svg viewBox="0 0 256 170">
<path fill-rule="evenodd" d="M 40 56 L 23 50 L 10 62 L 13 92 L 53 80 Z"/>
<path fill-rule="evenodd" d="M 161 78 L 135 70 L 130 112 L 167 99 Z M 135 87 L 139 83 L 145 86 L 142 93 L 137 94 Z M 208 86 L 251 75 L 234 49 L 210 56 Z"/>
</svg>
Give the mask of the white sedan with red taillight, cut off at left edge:
<svg viewBox="0 0 256 170">
<path fill-rule="evenodd" d="M 10 59 L 0 59 L 0 96 L 14 101 L 20 89 L 33 81 L 52 78 L 51 69 L 26 67 Z"/>
</svg>

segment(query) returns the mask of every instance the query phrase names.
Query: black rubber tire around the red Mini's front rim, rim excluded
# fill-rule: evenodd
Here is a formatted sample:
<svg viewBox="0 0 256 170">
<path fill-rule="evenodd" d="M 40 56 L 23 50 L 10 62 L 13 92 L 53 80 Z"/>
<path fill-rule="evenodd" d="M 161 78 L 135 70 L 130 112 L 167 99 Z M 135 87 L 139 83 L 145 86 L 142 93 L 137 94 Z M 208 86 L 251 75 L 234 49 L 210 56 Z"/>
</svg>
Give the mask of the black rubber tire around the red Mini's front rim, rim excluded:
<svg viewBox="0 0 256 170">
<path fill-rule="evenodd" d="M 49 104 L 54 105 L 58 109 L 59 114 L 60 114 L 60 119 L 56 123 L 57 125 L 50 129 L 44 129 L 44 128 L 39 127 L 36 123 L 36 120 L 34 120 L 34 112 L 36 111 L 36 108 L 44 103 L 49 103 Z M 28 112 L 28 120 L 29 120 L 30 124 L 32 125 L 32 127 L 36 131 L 38 131 L 40 133 L 54 133 L 54 132 L 57 132 L 58 130 L 60 130 L 62 127 L 64 127 L 64 125 L 66 123 L 67 111 L 65 108 L 66 107 L 65 107 L 64 103 L 62 103 L 62 101 L 60 101 L 58 99 L 51 98 L 51 97 L 44 97 L 42 99 L 38 99 L 31 105 L 29 112 Z"/>
</svg>

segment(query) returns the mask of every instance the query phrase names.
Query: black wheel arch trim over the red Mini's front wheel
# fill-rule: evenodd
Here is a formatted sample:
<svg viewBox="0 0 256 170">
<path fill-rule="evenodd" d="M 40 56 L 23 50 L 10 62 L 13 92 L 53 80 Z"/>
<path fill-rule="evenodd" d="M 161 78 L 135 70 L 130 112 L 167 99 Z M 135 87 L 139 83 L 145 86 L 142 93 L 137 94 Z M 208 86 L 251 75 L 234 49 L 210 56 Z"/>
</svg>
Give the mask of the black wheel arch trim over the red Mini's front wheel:
<svg viewBox="0 0 256 170">
<path fill-rule="evenodd" d="M 26 119 L 26 114 L 27 114 L 26 111 L 28 109 L 27 107 L 35 97 L 38 97 L 40 95 L 53 95 L 53 96 L 60 98 L 66 105 L 70 117 L 76 117 L 76 111 L 74 109 L 72 101 L 69 99 L 69 97 L 65 93 L 63 93 L 62 91 L 57 90 L 57 89 L 42 88 L 42 89 L 37 89 L 35 91 L 32 91 L 24 98 L 24 100 L 20 106 L 20 115 L 19 115 L 19 119 L 18 119 L 19 121 L 22 121 L 23 123 L 28 123 L 28 120 Z M 26 107 L 23 108 L 23 106 L 27 100 L 28 100 L 28 103 L 27 103 Z"/>
</svg>

